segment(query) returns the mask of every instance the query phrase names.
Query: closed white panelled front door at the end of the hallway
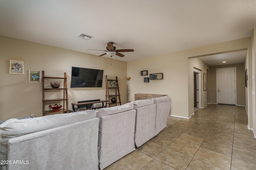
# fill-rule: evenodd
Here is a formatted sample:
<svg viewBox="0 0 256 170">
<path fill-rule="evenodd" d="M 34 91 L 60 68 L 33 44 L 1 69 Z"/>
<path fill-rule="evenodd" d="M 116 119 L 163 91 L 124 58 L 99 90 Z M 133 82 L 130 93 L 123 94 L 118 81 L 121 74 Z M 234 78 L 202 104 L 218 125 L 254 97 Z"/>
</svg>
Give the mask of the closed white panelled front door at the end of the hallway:
<svg viewBox="0 0 256 170">
<path fill-rule="evenodd" d="M 236 104 L 235 68 L 217 69 L 218 104 Z"/>
</svg>

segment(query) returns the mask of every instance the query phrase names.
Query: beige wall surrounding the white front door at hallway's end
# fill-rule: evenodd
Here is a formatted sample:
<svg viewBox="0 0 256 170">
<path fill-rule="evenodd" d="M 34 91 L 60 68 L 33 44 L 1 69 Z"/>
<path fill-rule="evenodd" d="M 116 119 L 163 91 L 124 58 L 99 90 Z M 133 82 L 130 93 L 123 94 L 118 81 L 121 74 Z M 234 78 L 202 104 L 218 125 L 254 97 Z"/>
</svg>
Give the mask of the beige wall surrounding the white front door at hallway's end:
<svg viewBox="0 0 256 170">
<path fill-rule="evenodd" d="M 236 104 L 245 106 L 244 63 L 210 67 L 210 103 L 217 103 L 216 69 L 230 67 L 236 68 Z"/>
</svg>

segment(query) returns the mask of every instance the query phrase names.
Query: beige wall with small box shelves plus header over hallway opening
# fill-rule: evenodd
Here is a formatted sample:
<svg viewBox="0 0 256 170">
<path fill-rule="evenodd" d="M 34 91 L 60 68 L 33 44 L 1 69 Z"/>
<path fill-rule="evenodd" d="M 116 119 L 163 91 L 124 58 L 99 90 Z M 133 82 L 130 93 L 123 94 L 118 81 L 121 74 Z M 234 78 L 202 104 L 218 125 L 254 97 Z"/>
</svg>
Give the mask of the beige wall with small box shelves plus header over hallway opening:
<svg viewBox="0 0 256 170">
<path fill-rule="evenodd" d="M 251 37 L 130 61 L 127 63 L 127 76 L 132 77 L 129 99 L 134 100 L 136 93 L 167 94 L 172 99 L 170 114 L 188 118 L 194 113 L 194 92 L 191 82 L 196 67 L 188 62 L 188 58 L 242 49 L 248 49 L 250 59 Z M 164 79 L 144 83 L 143 78 L 146 76 L 140 76 L 142 70 L 148 70 L 149 73 L 163 72 Z"/>
</svg>

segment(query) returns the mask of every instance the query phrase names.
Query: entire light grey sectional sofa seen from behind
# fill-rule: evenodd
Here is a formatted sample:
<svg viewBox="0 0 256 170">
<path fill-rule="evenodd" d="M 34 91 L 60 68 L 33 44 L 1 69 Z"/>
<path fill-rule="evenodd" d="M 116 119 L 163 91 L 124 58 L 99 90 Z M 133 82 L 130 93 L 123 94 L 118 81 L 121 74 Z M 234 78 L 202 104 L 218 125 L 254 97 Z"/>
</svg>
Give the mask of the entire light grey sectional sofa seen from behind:
<svg viewBox="0 0 256 170">
<path fill-rule="evenodd" d="M 0 168 L 102 170 L 162 131 L 170 107 L 170 98 L 163 96 L 96 110 L 9 119 L 0 125 Z"/>
</svg>

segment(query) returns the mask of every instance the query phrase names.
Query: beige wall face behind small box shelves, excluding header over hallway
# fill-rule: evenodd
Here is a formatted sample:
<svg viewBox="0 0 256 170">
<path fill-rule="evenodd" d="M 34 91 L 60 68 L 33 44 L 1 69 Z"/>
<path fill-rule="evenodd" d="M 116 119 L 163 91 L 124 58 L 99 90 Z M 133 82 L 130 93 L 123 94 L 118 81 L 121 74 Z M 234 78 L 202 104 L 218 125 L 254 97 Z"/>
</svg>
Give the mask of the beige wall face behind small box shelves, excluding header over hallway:
<svg viewBox="0 0 256 170">
<path fill-rule="evenodd" d="M 188 117 L 188 58 L 179 53 L 161 55 L 127 63 L 127 76 L 130 80 L 129 100 L 134 94 L 167 94 L 172 100 L 171 113 Z M 140 76 L 140 71 L 148 70 L 148 76 Z M 150 80 L 144 77 L 152 73 L 163 73 L 163 80 Z"/>
</svg>

